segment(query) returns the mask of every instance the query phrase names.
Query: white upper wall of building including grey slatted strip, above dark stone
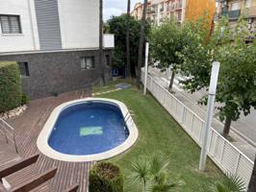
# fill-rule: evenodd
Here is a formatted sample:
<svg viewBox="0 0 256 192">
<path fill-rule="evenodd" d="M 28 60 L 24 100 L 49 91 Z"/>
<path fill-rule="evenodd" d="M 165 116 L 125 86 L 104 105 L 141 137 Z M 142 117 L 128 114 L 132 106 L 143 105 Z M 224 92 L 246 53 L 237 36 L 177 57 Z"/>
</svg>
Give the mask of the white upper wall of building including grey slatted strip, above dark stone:
<svg viewBox="0 0 256 192">
<path fill-rule="evenodd" d="M 0 53 L 99 47 L 99 0 L 0 0 L 0 14 L 20 15 L 22 29 L 0 30 Z"/>
</svg>

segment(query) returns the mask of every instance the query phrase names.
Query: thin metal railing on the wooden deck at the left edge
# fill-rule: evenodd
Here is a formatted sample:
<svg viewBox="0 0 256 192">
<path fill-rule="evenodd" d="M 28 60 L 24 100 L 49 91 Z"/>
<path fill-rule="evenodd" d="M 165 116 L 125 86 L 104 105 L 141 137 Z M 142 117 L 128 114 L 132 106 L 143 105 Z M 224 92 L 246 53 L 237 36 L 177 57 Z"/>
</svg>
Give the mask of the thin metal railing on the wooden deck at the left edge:
<svg viewBox="0 0 256 192">
<path fill-rule="evenodd" d="M 13 142 L 15 151 L 16 153 L 18 153 L 14 131 L 15 130 L 11 125 L 9 125 L 6 121 L 0 118 L 0 134 L 5 137 L 5 140 L 8 144 L 10 144 L 10 142 Z"/>
</svg>

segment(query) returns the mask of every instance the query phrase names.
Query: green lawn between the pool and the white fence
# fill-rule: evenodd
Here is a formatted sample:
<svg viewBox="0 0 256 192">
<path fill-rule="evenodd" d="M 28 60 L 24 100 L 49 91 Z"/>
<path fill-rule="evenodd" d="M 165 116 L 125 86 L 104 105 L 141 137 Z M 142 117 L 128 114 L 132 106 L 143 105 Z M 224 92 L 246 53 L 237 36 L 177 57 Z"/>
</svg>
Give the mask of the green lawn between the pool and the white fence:
<svg viewBox="0 0 256 192">
<path fill-rule="evenodd" d="M 110 86 L 115 84 L 112 83 Z M 99 91 L 100 87 L 96 89 Z M 131 150 L 109 160 L 120 167 L 124 176 L 125 192 L 141 191 L 138 185 L 129 180 L 131 163 L 141 157 L 150 157 L 152 154 L 168 156 L 168 178 L 183 180 L 186 183 L 175 191 L 199 191 L 204 185 L 212 185 L 222 176 L 211 160 L 207 162 L 205 173 L 198 171 L 199 147 L 150 94 L 143 96 L 141 91 L 132 86 L 99 97 L 123 102 L 134 114 L 133 119 L 140 132 L 138 142 Z"/>
</svg>

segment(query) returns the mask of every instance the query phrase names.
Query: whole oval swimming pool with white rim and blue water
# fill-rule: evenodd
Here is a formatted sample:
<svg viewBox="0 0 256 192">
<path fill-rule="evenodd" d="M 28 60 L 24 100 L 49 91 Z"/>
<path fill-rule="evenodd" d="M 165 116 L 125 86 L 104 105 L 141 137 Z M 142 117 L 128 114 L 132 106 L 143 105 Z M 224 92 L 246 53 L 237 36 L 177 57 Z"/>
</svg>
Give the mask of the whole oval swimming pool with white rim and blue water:
<svg viewBox="0 0 256 192">
<path fill-rule="evenodd" d="M 38 149 L 64 161 L 102 160 L 128 150 L 138 130 L 128 109 L 111 99 L 88 98 L 55 108 L 38 135 Z"/>
</svg>

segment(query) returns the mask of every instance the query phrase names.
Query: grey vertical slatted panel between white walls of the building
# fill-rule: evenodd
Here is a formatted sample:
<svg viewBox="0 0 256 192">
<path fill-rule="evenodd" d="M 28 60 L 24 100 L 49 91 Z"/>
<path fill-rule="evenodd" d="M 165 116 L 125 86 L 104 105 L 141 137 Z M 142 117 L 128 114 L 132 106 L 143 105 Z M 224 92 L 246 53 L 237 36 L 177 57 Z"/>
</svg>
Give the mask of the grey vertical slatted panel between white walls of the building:
<svg viewBox="0 0 256 192">
<path fill-rule="evenodd" d="M 40 50 L 62 49 L 58 0 L 35 0 Z"/>
</svg>

